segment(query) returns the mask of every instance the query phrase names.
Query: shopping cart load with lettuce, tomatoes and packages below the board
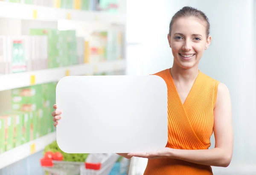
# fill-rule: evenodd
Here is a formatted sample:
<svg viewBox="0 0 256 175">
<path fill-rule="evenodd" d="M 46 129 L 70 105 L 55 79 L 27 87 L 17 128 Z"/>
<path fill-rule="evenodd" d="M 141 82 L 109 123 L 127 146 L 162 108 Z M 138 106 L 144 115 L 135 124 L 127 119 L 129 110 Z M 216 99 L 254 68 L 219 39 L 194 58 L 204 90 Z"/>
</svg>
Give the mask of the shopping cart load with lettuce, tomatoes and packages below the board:
<svg viewBox="0 0 256 175">
<path fill-rule="evenodd" d="M 47 174 L 127 175 L 129 159 L 112 154 L 67 154 L 56 141 L 47 145 L 40 160 Z"/>
</svg>

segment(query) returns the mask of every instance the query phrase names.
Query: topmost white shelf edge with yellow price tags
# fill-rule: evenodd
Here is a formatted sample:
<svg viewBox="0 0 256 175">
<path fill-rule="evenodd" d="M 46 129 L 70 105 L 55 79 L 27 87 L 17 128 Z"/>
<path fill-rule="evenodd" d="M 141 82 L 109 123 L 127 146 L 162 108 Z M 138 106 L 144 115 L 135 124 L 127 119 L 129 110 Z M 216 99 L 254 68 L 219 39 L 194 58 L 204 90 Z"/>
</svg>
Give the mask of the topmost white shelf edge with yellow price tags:
<svg viewBox="0 0 256 175">
<path fill-rule="evenodd" d="M 104 23 L 125 23 L 126 20 L 125 14 L 119 13 L 59 9 L 9 2 L 0 2 L 0 17 L 17 18 L 23 20 L 77 20 L 98 21 Z"/>
</svg>

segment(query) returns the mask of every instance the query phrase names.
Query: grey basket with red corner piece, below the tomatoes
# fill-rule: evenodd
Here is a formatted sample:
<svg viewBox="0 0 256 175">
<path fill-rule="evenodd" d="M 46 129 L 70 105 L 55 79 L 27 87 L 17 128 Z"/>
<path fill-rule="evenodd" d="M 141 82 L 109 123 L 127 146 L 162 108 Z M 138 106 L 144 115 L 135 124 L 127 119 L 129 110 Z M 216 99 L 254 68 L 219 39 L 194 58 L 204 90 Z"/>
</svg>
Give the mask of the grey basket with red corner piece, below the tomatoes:
<svg viewBox="0 0 256 175">
<path fill-rule="evenodd" d="M 41 166 L 46 175 L 80 175 L 80 166 L 84 162 L 52 161 L 41 159 Z"/>
</svg>

